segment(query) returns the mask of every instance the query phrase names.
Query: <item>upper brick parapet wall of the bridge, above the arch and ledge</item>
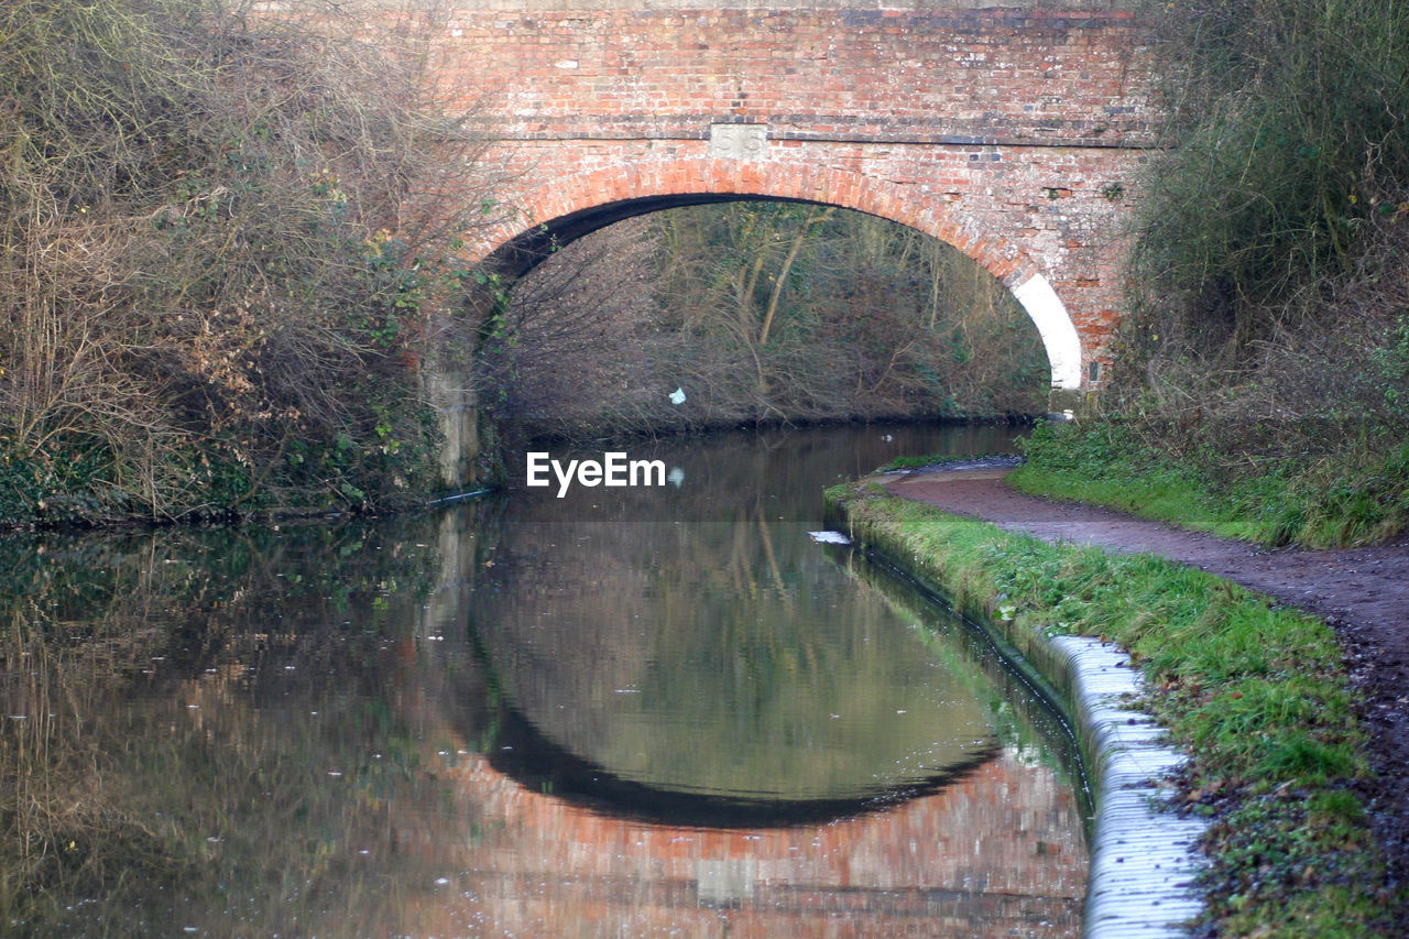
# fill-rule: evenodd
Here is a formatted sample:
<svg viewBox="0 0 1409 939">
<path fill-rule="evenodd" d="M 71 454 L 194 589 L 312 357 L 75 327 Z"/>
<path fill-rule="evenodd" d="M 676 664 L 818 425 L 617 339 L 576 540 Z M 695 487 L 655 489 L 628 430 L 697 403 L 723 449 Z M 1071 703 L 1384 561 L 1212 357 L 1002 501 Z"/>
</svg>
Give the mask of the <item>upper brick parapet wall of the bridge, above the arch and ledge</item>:
<svg viewBox="0 0 1409 939">
<path fill-rule="evenodd" d="M 513 137 L 1146 142 L 1127 13 L 603 10 L 455 13 L 448 97 Z"/>
</svg>

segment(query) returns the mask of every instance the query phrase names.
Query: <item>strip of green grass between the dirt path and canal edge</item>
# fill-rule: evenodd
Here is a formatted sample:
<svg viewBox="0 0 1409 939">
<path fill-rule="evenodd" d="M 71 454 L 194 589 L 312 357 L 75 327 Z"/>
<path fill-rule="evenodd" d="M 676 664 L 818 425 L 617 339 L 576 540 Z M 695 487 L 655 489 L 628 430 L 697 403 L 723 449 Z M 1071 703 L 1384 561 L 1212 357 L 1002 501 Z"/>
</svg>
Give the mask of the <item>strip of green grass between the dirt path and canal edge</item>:
<svg viewBox="0 0 1409 939">
<path fill-rule="evenodd" d="M 1099 636 L 1130 654 L 1150 687 L 1141 706 L 1192 756 L 1171 781 L 1177 805 L 1213 819 L 1202 926 L 1398 935 L 1394 909 L 1406 897 L 1386 885 L 1357 795 L 1371 771 L 1365 737 L 1323 622 L 1162 558 L 1047 544 L 874 484 L 828 489 L 827 505 L 857 541 L 971 616 Z"/>
</svg>

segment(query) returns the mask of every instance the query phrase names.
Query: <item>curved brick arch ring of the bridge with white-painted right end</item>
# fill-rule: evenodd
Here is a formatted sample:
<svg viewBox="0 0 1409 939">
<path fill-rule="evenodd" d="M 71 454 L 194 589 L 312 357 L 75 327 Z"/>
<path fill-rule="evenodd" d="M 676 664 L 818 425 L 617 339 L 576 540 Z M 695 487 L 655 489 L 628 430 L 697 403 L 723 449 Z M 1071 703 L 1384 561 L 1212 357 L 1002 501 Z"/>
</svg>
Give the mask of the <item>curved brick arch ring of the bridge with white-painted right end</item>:
<svg viewBox="0 0 1409 939">
<path fill-rule="evenodd" d="M 681 206 L 743 199 L 807 202 L 851 209 L 929 234 L 988 269 L 1037 327 L 1051 386 L 1079 391 L 1081 334 L 1041 262 L 1000 233 L 921 185 L 786 161 L 690 156 L 644 161 L 569 173 L 519 193 L 513 221 L 482 234 L 479 257 L 516 278 L 547 258 L 554 245 L 634 216 Z"/>
</svg>

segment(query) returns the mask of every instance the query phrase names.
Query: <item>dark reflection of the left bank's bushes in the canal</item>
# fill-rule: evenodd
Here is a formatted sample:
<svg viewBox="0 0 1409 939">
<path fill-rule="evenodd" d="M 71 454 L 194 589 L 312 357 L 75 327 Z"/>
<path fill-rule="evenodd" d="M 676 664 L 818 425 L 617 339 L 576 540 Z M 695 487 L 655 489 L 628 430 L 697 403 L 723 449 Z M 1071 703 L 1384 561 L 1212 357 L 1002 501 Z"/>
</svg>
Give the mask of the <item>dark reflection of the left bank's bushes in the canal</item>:
<svg viewBox="0 0 1409 939">
<path fill-rule="evenodd" d="M 382 853 L 386 791 L 434 785 L 386 692 L 406 642 L 393 608 L 424 595 L 434 557 L 407 548 L 427 539 L 379 550 L 383 534 L 0 541 L 7 923 L 137 935 L 230 909 L 232 931 L 269 932 L 335 902 L 395 925 L 375 867 L 330 850 Z M 371 729 L 380 759 L 358 746 Z"/>
</svg>

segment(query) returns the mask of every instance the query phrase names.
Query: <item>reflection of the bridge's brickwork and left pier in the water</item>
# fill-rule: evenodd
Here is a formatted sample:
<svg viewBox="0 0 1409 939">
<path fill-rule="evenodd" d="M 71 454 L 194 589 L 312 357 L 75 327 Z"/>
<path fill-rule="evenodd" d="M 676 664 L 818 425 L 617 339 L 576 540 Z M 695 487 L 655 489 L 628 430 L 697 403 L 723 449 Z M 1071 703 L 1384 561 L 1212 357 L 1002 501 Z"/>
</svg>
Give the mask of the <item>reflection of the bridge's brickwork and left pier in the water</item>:
<svg viewBox="0 0 1409 939">
<path fill-rule="evenodd" d="M 528 739 L 531 728 L 513 728 L 524 718 L 496 675 L 495 656 L 468 629 L 473 598 L 510 564 L 500 543 L 493 556 L 486 550 L 497 522 L 476 517 L 440 520 L 442 568 L 418 626 L 437 642 L 406 644 L 397 684 L 395 708 L 426 742 L 417 775 L 448 787 L 454 809 L 399 801 L 389 808 L 392 857 L 433 871 L 423 891 L 397 894 L 403 932 L 1081 933 L 1085 808 L 1055 767 L 1019 746 L 988 751 L 945 785 L 885 811 L 776 828 L 597 812 L 554 791 L 551 778 L 510 766 L 503 747 L 545 742 Z M 1014 705 L 1022 712 L 1033 702 Z"/>
</svg>

